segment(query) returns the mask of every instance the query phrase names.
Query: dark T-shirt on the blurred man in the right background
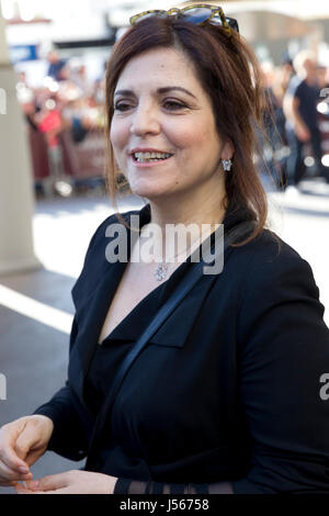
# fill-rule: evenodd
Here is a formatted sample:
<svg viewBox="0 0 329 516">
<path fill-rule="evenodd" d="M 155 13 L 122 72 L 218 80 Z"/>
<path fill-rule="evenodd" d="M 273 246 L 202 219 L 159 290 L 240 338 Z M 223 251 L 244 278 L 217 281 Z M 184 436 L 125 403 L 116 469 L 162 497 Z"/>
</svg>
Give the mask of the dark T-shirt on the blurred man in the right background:
<svg viewBox="0 0 329 516">
<path fill-rule="evenodd" d="M 319 98 L 319 87 L 310 86 L 306 80 L 295 76 L 291 79 L 287 93 L 299 100 L 298 111 L 305 125 L 311 131 L 318 127 L 317 104 Z"/>
</svg>

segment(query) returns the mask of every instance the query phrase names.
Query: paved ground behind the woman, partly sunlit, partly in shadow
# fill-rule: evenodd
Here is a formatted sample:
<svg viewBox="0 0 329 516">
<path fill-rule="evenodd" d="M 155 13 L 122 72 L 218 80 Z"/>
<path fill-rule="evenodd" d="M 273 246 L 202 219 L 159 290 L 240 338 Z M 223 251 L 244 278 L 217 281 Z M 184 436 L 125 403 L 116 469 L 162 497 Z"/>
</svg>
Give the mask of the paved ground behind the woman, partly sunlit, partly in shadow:
<svg viewBox="0 0 329 516">
<path fill-rule="evenodd" d="M 329 307 L 329 186 L 305 181 L 303 193 L 293 199 L 268 190 L 271 227 L 309 261 L 320 299 Z M 120 202 L 122 211 L 141 205 L 134 198 Z M 35 251 L 44 269 L 0 278 L 0 373 L 7 379 L 0 426 L 31 414 L 64 384 L 73 314 L 70 290 L 91 235 L 111 212 L 104 197 L 37 202 Z M 328 313 L 325 319 L 329 325 Z M 32 471 L 39 478 L 82 464 L 47 452 Z M 0 494 L 12 492 L 0 487 Z"/>
</svg>

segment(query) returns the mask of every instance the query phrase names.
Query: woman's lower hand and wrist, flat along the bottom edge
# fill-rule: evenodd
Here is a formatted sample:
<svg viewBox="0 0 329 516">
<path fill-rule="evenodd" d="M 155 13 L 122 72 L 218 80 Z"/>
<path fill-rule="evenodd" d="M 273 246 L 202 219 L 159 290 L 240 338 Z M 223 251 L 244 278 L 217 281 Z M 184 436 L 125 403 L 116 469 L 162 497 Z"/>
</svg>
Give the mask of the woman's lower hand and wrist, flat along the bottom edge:
<svg viewBox="0 0 329 516">
<path fill-rule="evenodd" d="M 16 483 L 18 494 L 113 494 L 116 476 L 90 471 L 71 470 L 36 481 L 26 481 L 26 487 Z"/>
</svg>

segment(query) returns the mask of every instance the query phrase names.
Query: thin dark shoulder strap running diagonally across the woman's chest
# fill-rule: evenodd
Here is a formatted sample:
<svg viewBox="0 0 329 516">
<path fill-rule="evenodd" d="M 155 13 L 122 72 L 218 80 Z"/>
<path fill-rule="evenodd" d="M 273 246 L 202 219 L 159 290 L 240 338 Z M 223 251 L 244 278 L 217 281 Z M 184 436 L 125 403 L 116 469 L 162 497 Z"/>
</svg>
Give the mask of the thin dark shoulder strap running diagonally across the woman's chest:
<svg viewBox="0 0 329 516">
<path fill-rule="evenodd" d="M 234 244 L 235 242 L 238 242 L 239 238 L 247 236 L 247 234 L 253 228 L 253 225 L 254 225 L 253 221 L 243 221 L 239 223 L 238 225 L 236 225 L 231 231 L 229 231 L 227 235 L 225 235 L 224 237 L 224 245 L 219 246 L 219 254 L 224 255 L 224 253 L 227 250 L 229 245 Z M 219 233 L 219 229 L 217 229 L 218 233 Z M 204 261 L 206 261 L 206 263 L 209 265 L 211 260 L 206 258 L 209 257 L 211 253 L 212 253 L 212 248 L 208 248 L 206 254 L 203 255 L 204 258 L 197 263 L 195 263 L 193 267 L 191 267 L 189 272 L 184 276 L 182 281 L 179 283 L 178 289 L 174 290 L 172 295 L 167 300 L 167 302 L 158 311 L 154 319 L 149 323 L 149 325 L 139 336 L 136 344 L 133 346 L 128 355 L 123 360 L 121 367 L 118 368 L 118 371 L 112 384 L 111 393 L 105 399 L 103 405 L 101 406 L 101 410 L 98 415 L 98 419 L 97 419 L 97 423 L 95 423 L 95 426 L 91 436 L 88 460 L 86 463 L 86 469 L 88 471 L 91 471 L 93 468 L 92 449 L 98 440 L 95 437 L 100 431 L 100 425 L 102 422 L 104 422 L 105 418 L 110 417 L 116 394 L 129 368 L 132 367 L 132 364 L 134 363 L 138 355 L 141 352 L 141 350 L 145 348 L 145 346 L 148 344 L 150 338 L 155 335 L 155 333 L 160 328 L 160 326 L 164 323 L 164 321 L 167 321 L 167 318 L 171 315 L 174 309 L 184 300 L 184 298 L 192 290 L 195 283 L 202 278 L 203 267 L 205 265 Z M 214 259 L 215 258 L 218 258 L 218 255 L 214 257 Z"/>
</svg>

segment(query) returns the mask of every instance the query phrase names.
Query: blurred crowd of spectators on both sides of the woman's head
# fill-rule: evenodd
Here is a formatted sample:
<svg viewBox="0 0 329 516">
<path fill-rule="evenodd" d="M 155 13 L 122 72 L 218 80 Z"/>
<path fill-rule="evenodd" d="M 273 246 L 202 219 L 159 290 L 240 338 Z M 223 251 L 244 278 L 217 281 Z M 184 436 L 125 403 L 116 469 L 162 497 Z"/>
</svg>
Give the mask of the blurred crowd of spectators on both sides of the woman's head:
<svg viewBox="0 0 329 516">
<path fill-rule="evenodd" d="M 104 74 L 91 81 L 83 64 L 64 60 L 57 52 L 49 52 L 47 61 L 47 74 L 38 88 L 30 86 L 23 71 L 16 88 L 29 131 L 42 134 L 46 142 L 52 194 L 66 176 L 60 135 L 69 134 L 78 148 L 90 133 L 101 132 L 105 86 Z M 265 132 L 259 132 L 260 171 L 270 171 L 276 187 L 290 194 L 298 193 L 305 175 L 329 182 L 329 67 L 302 51 L 280 66 L 263 61 L 261 71 L 268 102 L 263 105 Z"/>
</svg>

